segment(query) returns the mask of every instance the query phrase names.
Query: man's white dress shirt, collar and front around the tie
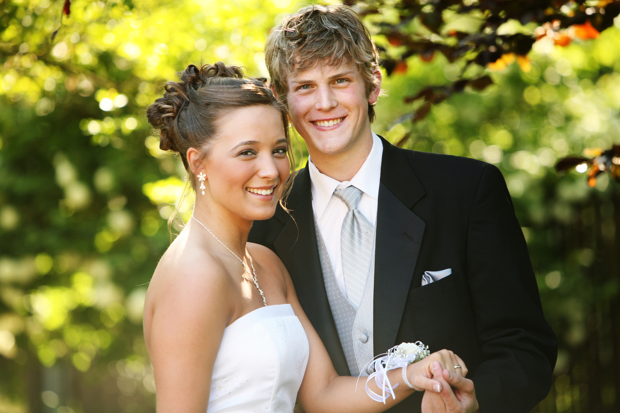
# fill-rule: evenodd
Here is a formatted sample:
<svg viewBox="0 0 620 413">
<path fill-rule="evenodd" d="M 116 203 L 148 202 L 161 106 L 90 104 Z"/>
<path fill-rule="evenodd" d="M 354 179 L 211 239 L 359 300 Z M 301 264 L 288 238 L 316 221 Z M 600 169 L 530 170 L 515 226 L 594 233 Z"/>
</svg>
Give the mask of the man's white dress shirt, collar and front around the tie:
<svg viewBox="0 0 620 413">
<path fill-rule="evenodd" d="M 373 147 L 370 150 L 370 154 L 368 154 L 368 157 L 352 180 L 344 182 L 339 182 L 322 174 L 314 166 L 312 159 L 308 159 L 314 219 L 316 219 L 325 248 L 327 248 L 327 253 L 329 254 L 329 259 L 334 267 L 334 275 L 345 297 L 347 297 L 347 289 L 342 272 L 340 228 L 342 228 L 342 222 L 348 209 L 344 202 L 332 196 L 332 194 L 334 194 L 336 189 L 347 188 L 350 185 L 361 189 L 363 194 L 361 194 L 357 209 L 373 224 L 373 227 L 376 226 L 382 156 L 383 144 L 381 139 L 373 132 Z"/>
</svg>

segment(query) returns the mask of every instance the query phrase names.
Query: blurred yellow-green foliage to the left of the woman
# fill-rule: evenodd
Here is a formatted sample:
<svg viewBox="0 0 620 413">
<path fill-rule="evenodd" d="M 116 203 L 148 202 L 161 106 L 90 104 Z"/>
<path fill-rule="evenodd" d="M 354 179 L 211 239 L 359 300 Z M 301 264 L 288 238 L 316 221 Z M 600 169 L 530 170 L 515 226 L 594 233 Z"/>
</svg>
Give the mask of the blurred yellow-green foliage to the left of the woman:
<svg viewBox="0 0 620 413">
<path fill-rule="evenodd" d="M 266 76 L 293 4 L 0 4 L 0 412 L 154 411 L 142 306 L 185 173 L 144 108 L 189 63 Z"/>
</svg>

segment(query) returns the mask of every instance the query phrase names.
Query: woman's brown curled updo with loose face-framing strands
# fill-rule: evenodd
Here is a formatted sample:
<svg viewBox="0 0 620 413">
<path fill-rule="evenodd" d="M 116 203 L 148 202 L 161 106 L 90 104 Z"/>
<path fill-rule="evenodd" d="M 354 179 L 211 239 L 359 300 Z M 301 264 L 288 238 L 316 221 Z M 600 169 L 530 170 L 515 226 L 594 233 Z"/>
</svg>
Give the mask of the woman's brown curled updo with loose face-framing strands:
<svg viewBox="0 0 620 413">
<path fill-rule="evenodd" d="M 244 77 L 240 67 L 226 66 L 222 62 L 200 68 L 190 64 L 177 76 L 180 81 L 166 83 L 166 93 L 151 103 L 146 117 L 159 130 L 159 148 L 179 152 L 194 189 L 196 177 L 187 162 L 187 149 L 200 150 L 203 160 L 218 134 L 218 121 L 227 111 L 272 106 L 282 116 L 282 128 L 290 144 L 286 108 L 265 85 L 267 79 Z M 291 168 L 294 165 L 292 152 L 288 151 Z"/>
</svg>

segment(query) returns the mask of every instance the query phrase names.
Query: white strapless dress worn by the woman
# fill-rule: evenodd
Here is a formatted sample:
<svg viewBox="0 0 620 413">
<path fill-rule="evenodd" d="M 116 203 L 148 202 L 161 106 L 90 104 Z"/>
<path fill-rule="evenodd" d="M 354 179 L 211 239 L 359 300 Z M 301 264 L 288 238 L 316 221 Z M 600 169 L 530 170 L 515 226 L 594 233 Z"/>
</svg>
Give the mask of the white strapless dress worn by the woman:
<svg viewBox="0 0 620 413">
<path fill-rule="evenodd" d="M 290 304 L 247 313 L 224 329 L 207 412 L 292 413 L 308 354 Z"/>
</svg>

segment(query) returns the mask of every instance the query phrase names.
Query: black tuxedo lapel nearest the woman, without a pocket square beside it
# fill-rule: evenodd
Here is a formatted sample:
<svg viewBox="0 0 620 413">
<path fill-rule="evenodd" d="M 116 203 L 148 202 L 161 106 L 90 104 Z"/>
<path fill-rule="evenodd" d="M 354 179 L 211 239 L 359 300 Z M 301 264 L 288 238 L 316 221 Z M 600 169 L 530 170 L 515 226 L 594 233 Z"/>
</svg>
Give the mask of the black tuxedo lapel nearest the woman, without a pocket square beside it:
<svg viewBox="0 0 620 413">
<path fill-rule="evenodd" d="M 291 275 L 299 303 L 321 337 L 339 375 L 350 375 L 325 291 L 316 241 L 308 167 L 295 177 L 288 219 L 275 241 L 275 250 Z M 289 202 L 287 202 L 289 204 Z"/>
</svg>

